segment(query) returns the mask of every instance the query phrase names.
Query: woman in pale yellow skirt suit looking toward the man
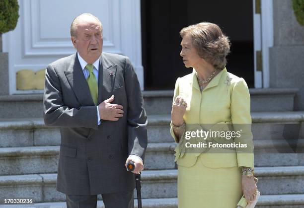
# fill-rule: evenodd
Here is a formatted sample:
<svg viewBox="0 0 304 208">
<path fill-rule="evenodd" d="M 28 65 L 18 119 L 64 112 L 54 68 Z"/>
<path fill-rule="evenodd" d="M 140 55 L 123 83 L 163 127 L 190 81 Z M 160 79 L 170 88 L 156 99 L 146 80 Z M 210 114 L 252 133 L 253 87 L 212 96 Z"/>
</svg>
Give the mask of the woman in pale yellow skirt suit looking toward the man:
<svg viewBox="0 0 304 208">
<path fill-rule="evenodd" d="M 193 72 L 176 80 L 171 112 L 170 132 L 178 143 L 178 208 L 236 208 L 242 194 L 253 201 L 257 188 L 249 90 L 243 78 L 227 72 L 230 43 L 218 25 L 202 22 L 180 35 L 180 56 Z M 187 153 L 183 136 L 188 124 L 247 125 L 233 141 L 248 144 L 251 151 Z"/>
</svg>

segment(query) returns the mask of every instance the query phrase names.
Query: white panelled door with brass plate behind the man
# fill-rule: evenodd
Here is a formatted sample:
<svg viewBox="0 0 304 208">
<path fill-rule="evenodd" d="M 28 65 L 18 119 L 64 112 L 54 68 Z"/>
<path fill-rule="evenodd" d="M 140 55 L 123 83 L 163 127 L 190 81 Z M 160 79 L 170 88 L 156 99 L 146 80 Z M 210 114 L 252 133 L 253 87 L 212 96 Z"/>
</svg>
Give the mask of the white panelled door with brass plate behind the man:
<svg viewBox="0 0 304 208">
<path fill-rule="evenodd" d="M 76 53 L 70 25 L 81 13 L 103 24 L 103 51 L 128 56 L 144 89 L 140 0 L 19 0 L 15 30 L 2 35 L 9 94 L 42 93 L 49 63 Z"/>
</svg>

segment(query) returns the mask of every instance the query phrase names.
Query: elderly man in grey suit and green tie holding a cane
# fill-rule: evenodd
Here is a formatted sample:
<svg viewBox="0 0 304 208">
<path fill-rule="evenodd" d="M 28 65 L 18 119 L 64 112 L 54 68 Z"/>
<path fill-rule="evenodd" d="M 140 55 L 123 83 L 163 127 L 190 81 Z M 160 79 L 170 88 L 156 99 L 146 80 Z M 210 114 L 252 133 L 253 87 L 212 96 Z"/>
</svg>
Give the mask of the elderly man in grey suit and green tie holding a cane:
<svg viewBox="0 0 304 208">
<path fill-rule="evenodd" d="M 46 69 L 44 122 L 61 127 L 57 190 L 68 208 L 133 208 L 134 173 L 143 170 L 147 116 L 125 56 L 102 53 L 102 24 L 84 13 L 71 25 L 76 54 Z"/>
</svg>

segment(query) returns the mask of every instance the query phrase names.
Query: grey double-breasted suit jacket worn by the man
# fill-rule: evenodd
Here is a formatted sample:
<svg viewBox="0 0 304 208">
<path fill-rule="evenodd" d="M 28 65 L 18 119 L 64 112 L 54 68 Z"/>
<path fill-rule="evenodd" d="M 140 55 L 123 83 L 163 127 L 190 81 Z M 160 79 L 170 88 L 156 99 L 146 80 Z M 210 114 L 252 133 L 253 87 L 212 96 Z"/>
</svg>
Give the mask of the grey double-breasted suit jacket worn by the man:
<svg viewBox="0 0 304 208">
<path fill-rule="evenodd" d="M 96 195 L 134 189 L 126 171 L 129 154 L 144 159 L 147 116 L 137 75 L 127 57 L 102 53 L 98 104 L 115 96 L 124 107 L 119 121 L 101 121 L 76 54 L 46 69 L 44 122 L 60 127 L 57 190 L 69 195 Z"/>
</svg>

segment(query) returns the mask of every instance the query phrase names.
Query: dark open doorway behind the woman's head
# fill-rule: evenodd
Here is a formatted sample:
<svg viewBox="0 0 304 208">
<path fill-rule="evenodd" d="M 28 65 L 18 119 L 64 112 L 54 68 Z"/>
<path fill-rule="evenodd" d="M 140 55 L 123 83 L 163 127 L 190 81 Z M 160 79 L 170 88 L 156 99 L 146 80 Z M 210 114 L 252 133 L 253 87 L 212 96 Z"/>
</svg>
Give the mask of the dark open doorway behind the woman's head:
<svg viewBox="0 0 304 208">
<path fill-rule="evenodd" d="M 177 77 L 192 72 L 179 56 L 179 31 L 203 21 L 228 35 L 227 69 L 254 87 L 252 6 L 251 0 L 141 0 L 145 90 L 173 89 Z"/>
</svg>

